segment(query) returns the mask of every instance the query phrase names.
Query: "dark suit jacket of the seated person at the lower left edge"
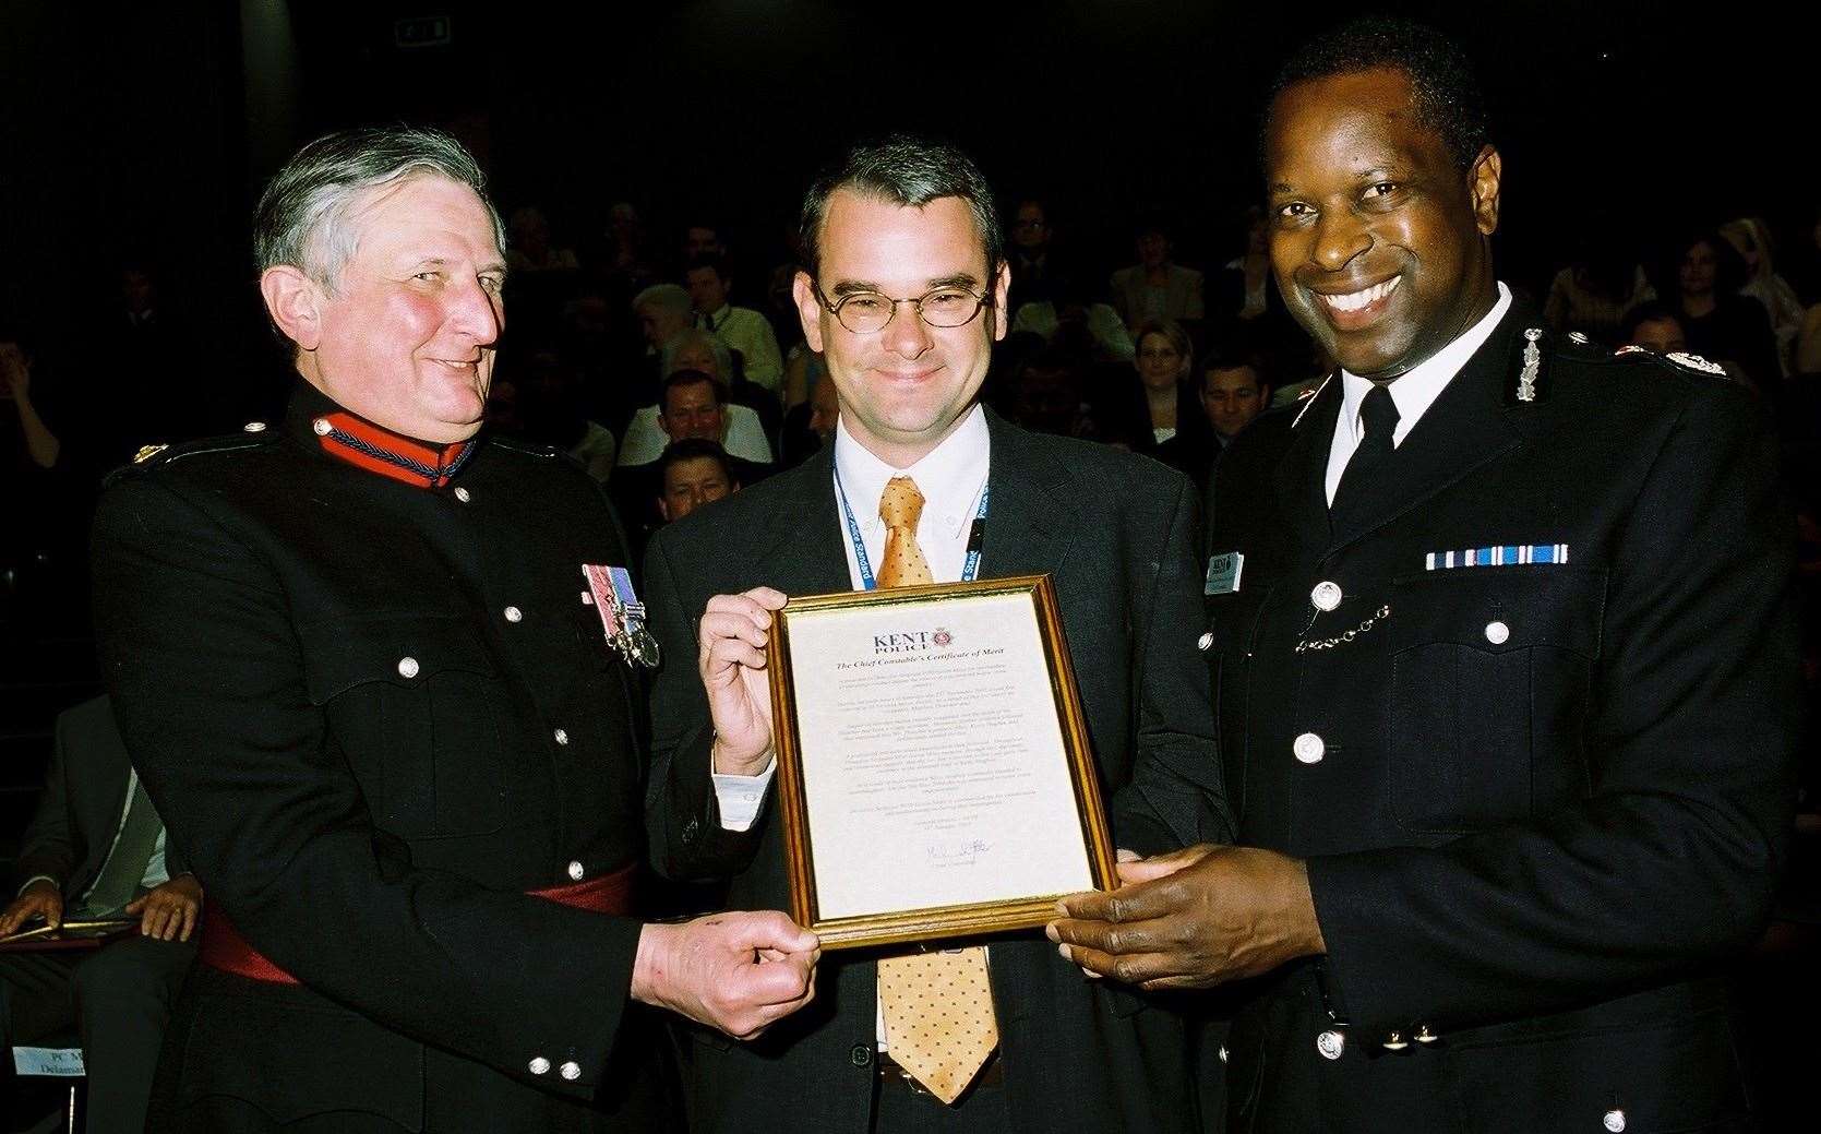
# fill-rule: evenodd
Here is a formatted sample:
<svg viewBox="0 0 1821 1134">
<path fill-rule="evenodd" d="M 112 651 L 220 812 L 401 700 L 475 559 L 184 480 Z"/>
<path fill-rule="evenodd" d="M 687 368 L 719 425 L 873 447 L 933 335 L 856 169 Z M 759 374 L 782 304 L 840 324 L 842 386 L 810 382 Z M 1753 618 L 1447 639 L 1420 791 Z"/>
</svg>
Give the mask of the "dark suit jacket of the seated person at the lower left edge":
<svg viewBox="0 0 1821 1134">
<path fill-rule="evenodd" d="M 107 697 L 60 714 L 44 794 L 20 835 L 18 883 L 53 877 L 64 901 L 95 885 L 120 828 L 131 770 Z M 184 874 L 184 856 L 169 841 L 164 868 L 171 877 Z"/>
</svg>

